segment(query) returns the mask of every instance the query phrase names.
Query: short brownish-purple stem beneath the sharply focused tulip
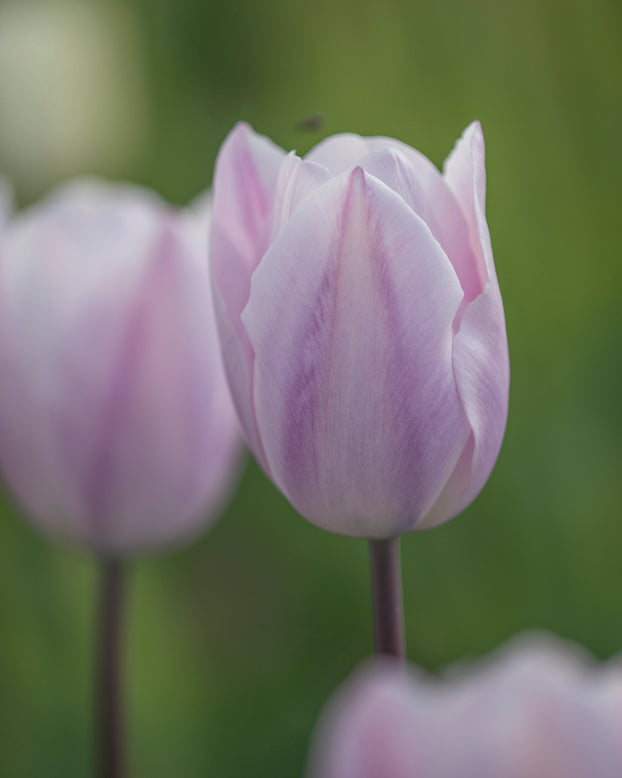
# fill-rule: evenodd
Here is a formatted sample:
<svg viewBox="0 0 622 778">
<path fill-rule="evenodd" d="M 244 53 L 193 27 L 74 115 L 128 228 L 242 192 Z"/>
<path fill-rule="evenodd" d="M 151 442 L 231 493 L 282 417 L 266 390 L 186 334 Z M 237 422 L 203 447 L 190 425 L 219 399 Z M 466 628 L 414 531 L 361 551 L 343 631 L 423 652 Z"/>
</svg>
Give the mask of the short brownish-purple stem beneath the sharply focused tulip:
<svg viewBox="0 0 622 778">
<path fill-rule="evenodd" d="M 376 654 L 406 658 L 400 539 L 370 540 Z"/>
</svg>

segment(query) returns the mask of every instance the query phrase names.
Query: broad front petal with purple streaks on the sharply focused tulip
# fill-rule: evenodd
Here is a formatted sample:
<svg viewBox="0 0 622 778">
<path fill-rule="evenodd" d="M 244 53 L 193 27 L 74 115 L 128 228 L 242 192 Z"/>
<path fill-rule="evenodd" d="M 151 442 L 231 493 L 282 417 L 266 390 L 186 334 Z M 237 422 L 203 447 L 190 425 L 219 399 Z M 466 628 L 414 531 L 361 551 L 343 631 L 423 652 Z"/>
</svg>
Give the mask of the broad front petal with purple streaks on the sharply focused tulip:
<svg viewBox="0 0 622 778">
<path fill-rule="evenodd" d="M 469 434 L 451 365 L 462 291 L 423 221 L 356 168 L 293 216 L 242 319 L 270 471 L 334 532 L 411 530 Z"/>
</svg>

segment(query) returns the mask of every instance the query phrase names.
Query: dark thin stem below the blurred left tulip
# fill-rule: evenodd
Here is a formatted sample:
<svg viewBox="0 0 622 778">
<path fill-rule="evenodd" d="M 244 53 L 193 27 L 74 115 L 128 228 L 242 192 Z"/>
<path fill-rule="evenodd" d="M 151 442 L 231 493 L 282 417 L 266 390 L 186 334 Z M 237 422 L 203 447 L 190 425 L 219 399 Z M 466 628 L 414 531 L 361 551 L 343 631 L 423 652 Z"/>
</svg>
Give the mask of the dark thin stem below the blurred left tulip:
<svg viewBox="0 0 622 778">
<path fill-rule="evenodd" d="M 122 565 L 115 559 L 101 561 L 100 624 L 98 635 L 97 774 L 122 778 L 123 721 L 121 690 Z"/>
</svg>

